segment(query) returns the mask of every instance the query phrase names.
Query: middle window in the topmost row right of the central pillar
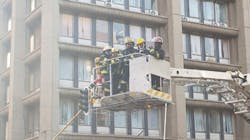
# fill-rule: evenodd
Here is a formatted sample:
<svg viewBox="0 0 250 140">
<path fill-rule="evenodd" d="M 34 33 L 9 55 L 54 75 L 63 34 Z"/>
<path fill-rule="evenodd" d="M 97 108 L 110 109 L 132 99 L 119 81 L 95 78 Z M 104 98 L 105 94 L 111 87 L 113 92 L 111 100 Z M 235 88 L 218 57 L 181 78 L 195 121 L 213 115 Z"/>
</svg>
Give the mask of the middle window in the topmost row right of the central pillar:
<svg viewBox="0 0 250 140">
<path fill-rule="evenodd" d="M 213 24 L 214 21 L 214 3 L 210 0 L 203 1 L 204 23 Z"/>
</svg>

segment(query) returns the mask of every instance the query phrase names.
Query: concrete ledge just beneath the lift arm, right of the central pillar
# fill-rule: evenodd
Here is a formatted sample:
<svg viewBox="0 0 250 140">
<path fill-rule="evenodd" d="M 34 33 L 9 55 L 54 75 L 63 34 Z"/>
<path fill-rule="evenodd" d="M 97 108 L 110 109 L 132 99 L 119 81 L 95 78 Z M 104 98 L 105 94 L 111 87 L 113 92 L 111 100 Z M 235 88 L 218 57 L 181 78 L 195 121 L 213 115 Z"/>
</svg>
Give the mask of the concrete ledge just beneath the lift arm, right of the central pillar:
<svg viewBox="0 0 250 140">
<path fill-rule="evenodd" d="M 232 110 L 229 105 L 224 104 L 223 102 L 217 101 L 208 101 L 208 100 L 195 100 L 195 99 L 186 99 L 187 106 L 192 107 L 206 107 L 206 108 L 216 108 L 216 109 L 226 109 Z"/>
</svg>

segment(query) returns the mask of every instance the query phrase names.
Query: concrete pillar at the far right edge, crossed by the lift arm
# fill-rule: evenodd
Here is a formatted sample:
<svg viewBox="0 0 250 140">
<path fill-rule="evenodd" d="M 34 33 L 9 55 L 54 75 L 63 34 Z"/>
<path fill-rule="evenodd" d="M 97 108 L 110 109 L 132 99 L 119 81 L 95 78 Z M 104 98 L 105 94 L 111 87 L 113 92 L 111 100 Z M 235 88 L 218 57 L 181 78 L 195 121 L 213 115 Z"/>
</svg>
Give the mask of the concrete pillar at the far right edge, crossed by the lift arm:
<svg viewBox="0 0 250 140">
<path fill-rule="evenodd" d="M 239 65 L 242 72 L 250 73 L 250 2 L 249 0 L 235 1 L 237 10 L 237 25 L 239 28 L 238 52 Z M 235 130 L 237 140 L 250 138 L 250 124 L 240 116 L 236 116 Z"/>
</svg>

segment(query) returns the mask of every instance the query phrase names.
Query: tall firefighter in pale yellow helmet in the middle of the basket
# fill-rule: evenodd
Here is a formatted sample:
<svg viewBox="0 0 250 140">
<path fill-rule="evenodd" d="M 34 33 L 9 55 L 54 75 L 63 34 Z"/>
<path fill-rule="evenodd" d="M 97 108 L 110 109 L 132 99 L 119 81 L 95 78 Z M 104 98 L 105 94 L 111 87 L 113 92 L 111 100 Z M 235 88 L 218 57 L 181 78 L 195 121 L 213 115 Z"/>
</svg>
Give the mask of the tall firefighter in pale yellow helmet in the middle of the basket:
<svg viewBox="0 0 250 140">
<path fill-rule="evenodd" d="M 125 49 L 122 51 L 123 62 L 121 63 L 121 79 L 119 82 L 119 91 L 125 92 L 128 90 L 128 82 L 129 82 L 129 59 L 133 59 L 135 57 L 134 53 L 138 51 L 134 48 L 134 41 L 130 37 L 124 38 Z"/>
</svg>

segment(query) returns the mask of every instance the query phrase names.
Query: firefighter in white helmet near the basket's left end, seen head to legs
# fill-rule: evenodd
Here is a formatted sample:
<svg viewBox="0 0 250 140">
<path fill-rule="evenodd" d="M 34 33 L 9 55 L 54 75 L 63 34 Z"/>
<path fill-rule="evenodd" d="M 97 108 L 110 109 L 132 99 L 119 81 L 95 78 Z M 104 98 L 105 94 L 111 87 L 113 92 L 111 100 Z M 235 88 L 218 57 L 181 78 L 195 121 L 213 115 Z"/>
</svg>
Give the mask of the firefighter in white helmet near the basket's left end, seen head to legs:
<svg viewBox="0 0 250 140">
<path fill-rule="evenodd" d="M 109 73 L 110 59 L 111 59 L 111 47 L 105 46 L 103 48 L 103 52 L 100 57 L 101 60 L 100 70 L 103 78 L 103 90 L 105 96 L 110 95 L 110 73 Z"/>
</svg>

